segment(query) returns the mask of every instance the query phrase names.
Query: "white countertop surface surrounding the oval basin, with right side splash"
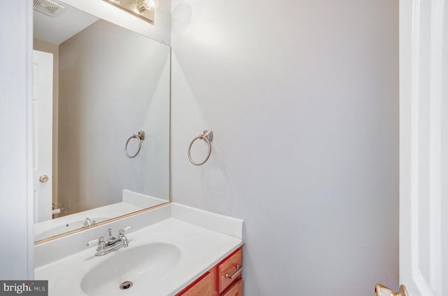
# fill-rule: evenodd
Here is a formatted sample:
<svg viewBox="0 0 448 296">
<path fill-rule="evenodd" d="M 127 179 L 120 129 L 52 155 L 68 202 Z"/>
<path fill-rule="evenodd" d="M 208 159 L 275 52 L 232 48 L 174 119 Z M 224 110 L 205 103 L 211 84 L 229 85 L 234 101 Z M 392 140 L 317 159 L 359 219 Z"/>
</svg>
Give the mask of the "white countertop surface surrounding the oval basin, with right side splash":
<svg viewBox="0 0 448 296">
<path fill-rule="evenodd" d="M 170 217 L 143 227 L 140 230 L 131 230 L 126 234 L 130 241 L 127 248 L 120 248 L 117 251 L 99 257 L 94 256 L 96 247 L 86 248 L 84 251 L 73 253 L 73 255 L 37 267 L 35 269 L 35 279 L 48 280 L 50 296 L 90 295 L 90 293 L 85 293 L 85 290 L 81 288 L 81 282 L 83 282 L 85 275 L 94 267 L 103 264 L 104 261 L 110 258 L 113 259 L 113 256 L 118 256 L 117 258 L 119 258 L 120 253 L 132 251 L 132 249 L 138 250 L 142 246 L 171 245 L 176 249 L 177 255 L 167 255 L 168 257 L 166 258 L 169 258 L 170 261 L 168 264 L 169 268 L 165 268 L 167 265 L 164 262 L 158 262 L 158 266 L 164 267 L 162 269 L 157 267 L 160 272 L 154 279 L 152 276 L 149 279 L 146 277 L 138 279 L 138 276 L 134 276 L 135 279 L 127 279 L 126 275 L 122 279 L 122 276 L 118 276 L 119 280 L 117 283 L 113 283 L 113 286 L 115 287 L 116 285 L 117 287 L 116 294 L 115 291 L 112 294 L 109 291 L 109 295 L 124 295 L 124 292 L 126 295 L 141 295 L 141 288 L 137 288 L 139 286 L 144 287 L 145 293 L 148 293 L 147 295 L 176 295 L 176 293 L 179 293 L 197 279 L 198 276 L 207 272 L 243 244 L 243 240 L 239 236 L 232 237 L 215 231 L 225 225 L 224 216 L 218 217 L 218 223 L 211 223 L 214 226 L 207 228 L 214 228 L 214 230 L 210 230 L 197 225 L 197 221 L 202 220 L 203 223 L 210 223 L 216 214 L 199 210 L 200 213 L 195 215 L 196 218 L 193 218 L 194 220 L 186 222 L 185 220 L 190 219 L 186 218 L 191 214 L 188 212 L 194 211 L 194 209 L 176 204 L 168 206 L 174 208 L 171 209 Z M 231 223 L 235 225 L 235 220 L 237 219 L 233 220 Z M 242 236 L 242 220 L 239 221 L 241 222 Z M 139 261 L 138 258 L 133 258 L 132 260 Z M 121 265 L 117 265 L 115 268 L 115 274 L 123 272 Z M 145 269 L 148 268 L 145 267 Z M 109 278 L 111 277 L 110 274 L 111 271 L 109 270 L 104 276 Z M 119 286 L 122 280 L 132 281 L 134 286 L 126 291 L 120 290 Z M 95 293 L 92 295 L 95 295 Z"/>
</svg>

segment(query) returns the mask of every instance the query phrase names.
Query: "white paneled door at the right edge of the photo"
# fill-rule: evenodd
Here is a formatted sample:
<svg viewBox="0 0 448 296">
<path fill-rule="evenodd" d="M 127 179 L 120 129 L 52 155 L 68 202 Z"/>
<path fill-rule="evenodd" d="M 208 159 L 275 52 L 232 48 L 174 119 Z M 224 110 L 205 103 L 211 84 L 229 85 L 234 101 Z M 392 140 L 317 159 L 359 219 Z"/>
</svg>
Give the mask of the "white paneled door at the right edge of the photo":
<svg viewBox="0 0 448 296">
<path fill-rule="evenodd" d="M 400 283 L 448 295 L 447 1 L 400 0 Z"/>
</svg>

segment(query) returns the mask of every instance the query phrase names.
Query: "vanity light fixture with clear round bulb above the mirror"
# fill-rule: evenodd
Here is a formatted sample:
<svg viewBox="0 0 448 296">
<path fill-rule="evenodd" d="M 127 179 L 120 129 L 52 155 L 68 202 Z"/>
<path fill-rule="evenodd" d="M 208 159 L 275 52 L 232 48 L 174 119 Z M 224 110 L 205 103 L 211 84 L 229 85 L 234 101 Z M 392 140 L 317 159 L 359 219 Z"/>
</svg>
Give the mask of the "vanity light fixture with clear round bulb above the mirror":
<svg viewBox="0 0 448 296">
<path fill-rule="evenodd" d="M 154 23 L 154 11 L 159 8 L 158 0 L 103 0 L 146 22 Z"/>
</svg>

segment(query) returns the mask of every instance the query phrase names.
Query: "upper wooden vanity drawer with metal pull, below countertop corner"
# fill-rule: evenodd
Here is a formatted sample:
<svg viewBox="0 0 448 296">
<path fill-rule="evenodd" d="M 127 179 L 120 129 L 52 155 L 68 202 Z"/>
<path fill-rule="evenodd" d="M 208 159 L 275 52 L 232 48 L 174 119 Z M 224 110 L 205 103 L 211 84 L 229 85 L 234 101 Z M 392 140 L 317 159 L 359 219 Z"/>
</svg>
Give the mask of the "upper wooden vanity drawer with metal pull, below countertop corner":
<svg viewBox="0 0 448 296">
<path fill-rule="evenodd" d="M 218 288 L 222 293 L 232 282 L 241 278 L 241 248 L 218 265 Z"/>
</svg>

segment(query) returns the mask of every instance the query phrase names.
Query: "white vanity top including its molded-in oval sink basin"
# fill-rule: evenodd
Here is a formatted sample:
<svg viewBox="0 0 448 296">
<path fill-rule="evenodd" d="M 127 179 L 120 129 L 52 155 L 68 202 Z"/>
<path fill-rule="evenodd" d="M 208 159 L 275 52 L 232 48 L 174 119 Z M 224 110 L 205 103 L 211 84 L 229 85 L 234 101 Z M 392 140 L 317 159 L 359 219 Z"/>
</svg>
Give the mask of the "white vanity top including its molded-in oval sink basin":
<svg viewBox="0 0 448 296">
<path fill-rule="evenodd" d="M 154 218 L 153 224 L 129 232 L 127 248 L 104 256 L 95 256 L 96 247 L 86 248 L 85 242 L 107 234 L 106 227 L 116 233 L 123 222 L 37 245 L 36 262 L 46 263 L 34 269 L 35 279 L 48 280 L 49 296 L 174 296 L 241 246 L 239 238 L 161 215 L 171 207 L 143 213 L 151 214 L 151 219 L 160 215 L 162 220 Z M 133 285 L 121 290 L 125 281 Z"/>
</svg>

